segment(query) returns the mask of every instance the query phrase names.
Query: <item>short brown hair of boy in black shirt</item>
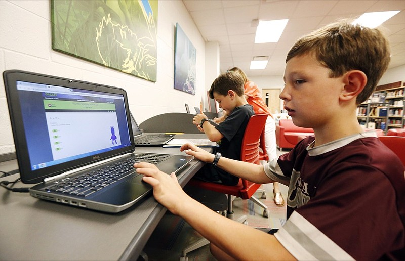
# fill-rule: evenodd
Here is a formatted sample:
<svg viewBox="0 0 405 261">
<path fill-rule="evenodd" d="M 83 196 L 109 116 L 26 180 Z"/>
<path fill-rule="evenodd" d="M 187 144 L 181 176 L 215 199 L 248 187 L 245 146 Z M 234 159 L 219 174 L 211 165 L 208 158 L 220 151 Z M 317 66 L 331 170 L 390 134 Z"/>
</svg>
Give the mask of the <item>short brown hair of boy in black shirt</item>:
<svg viewBox="0 0 405 261">
<path fill-rule="evenodd" d="M 220 74 L 214 82 L 211 84 L 211 89 L 208 91 L 208 95 L 211 99 L 214 99 L 213 93 L 216 92 L 220 95 L 227 96 L 228 91 L 234 91 L 238 96 L 243 96 L 244 92 L 244 79 L 237 72 L 226 72 Z"/>
</svg>

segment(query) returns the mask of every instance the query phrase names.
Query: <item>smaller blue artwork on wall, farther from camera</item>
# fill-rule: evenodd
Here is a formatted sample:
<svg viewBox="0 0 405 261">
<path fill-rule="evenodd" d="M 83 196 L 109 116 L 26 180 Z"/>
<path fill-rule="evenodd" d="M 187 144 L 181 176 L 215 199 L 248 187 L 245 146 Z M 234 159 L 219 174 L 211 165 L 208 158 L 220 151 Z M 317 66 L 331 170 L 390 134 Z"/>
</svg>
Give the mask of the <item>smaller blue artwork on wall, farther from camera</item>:
<svg viewBox="0 0 405 261">
<path fill-rule="evenodd" d="M 180 25 L 176 24 L 174 89 L 195 95 L 197 51 Z"/>
</svg>

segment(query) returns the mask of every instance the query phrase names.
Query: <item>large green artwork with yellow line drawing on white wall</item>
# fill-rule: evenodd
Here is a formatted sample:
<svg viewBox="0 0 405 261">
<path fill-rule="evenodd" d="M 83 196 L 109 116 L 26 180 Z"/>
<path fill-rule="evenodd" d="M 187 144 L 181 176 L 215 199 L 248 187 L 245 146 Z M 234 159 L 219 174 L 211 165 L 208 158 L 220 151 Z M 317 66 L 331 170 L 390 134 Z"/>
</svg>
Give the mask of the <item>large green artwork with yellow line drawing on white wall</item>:
<svg viewBox="0 0 405 261">
<path fill-rule="evenodd" d="M 52 49 L 156 82 L 157 0 L 51 0 Z"/>
</svg>

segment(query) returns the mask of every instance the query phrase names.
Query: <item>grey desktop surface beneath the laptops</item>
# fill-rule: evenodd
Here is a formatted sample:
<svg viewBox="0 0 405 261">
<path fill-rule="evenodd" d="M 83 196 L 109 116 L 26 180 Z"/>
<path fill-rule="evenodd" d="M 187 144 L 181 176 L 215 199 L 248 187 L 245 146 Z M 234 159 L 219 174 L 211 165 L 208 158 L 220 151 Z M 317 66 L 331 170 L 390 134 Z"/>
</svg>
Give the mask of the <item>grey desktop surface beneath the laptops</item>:
<svg viewBox="0 0 405 261">
<path fill-rule="evenodd" d="M 179 148 L 137 147 L 136 151 L 184 154 Z M 180 172 L 180 185 L 203 165 L 194 159 Z M 0 163 L 3 171 L 17 168 L 16 160 Z M 0 181 L 18 177 L 15 174 Z M 28 186 L 32 185 L 18 182 L 14 187 Z M 136 260 L 166 210 L 152 195 L 109 214 L 0 188 L 0 260 Z"/>
</svg>

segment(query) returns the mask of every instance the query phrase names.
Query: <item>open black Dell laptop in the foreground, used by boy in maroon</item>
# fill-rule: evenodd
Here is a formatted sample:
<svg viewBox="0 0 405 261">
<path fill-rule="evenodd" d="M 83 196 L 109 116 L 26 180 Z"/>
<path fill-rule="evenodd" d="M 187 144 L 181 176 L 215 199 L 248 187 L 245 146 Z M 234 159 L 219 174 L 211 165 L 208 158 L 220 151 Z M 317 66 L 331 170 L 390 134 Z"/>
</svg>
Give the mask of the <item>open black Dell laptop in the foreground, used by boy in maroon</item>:
<svg viewBox="0 0 405 261">
<path fill-rule="evenodd" d="M 151 191 L 133 168 L 178 172 L 193 157 L 136 153 L 125 90 L 32 72 L 3 73 L 21 180 L 30 195 L 122 211 Z"/>
</svg>

